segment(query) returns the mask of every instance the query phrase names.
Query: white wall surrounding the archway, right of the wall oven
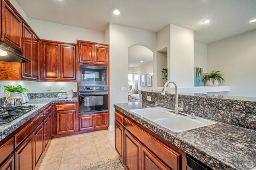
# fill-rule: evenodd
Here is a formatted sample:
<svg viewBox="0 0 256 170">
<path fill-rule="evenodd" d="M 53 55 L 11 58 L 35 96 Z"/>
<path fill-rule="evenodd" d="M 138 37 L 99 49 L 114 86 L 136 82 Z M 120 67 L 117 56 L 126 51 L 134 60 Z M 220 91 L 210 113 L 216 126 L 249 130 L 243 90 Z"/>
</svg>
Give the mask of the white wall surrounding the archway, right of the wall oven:
<svg viewBox="0 0 256 170">
<path fill-rule="evenodd" d="M 156 56 L 156 33 L 110 23 L 110 125 L 114 125 L 115 103 L 128 100 L 128 47 L 143 45 Z M 126 87 L 121 92 L 121 86 Z"/>
</svg>

